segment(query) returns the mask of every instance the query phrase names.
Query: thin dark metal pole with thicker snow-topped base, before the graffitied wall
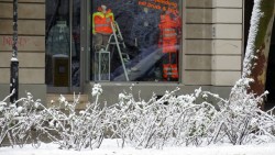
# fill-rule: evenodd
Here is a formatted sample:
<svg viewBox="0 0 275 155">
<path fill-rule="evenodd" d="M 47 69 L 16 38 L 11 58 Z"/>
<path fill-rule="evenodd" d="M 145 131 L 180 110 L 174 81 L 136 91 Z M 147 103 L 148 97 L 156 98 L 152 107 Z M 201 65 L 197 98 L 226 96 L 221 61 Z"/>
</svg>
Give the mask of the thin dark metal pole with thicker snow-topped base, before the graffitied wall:
<svg viewBox="0 0 275 155">
<path fill-rule="evenodd" d="M 18 60 L 18 0 L 13 0 L 13 43 L 11 57 L 11 76 L 10 76 L 10 102 L 18 100 L 19 87 L 19 60 Z"/>
</svg>

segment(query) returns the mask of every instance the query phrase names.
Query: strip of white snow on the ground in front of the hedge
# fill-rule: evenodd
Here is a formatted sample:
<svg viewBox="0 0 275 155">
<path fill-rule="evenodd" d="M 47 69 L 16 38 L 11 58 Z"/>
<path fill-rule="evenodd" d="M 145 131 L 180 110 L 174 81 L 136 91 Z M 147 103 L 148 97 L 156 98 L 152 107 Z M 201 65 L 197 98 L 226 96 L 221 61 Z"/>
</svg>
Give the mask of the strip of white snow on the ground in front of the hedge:
<svg viewBox="0 0 275 155">
<path fill-rule="evenodd" d="M 210 145 L 210 146 L 189 146 L 189 147 L 164 147 L 163 150 L 144 148 L 136 150 L 130 146 L 124 148 L 117 146 L 116 140 L 105 140 L 98 150 L 59 150 L 56 144 L 42 144 L 38 148 L 32 145 L 0 147 L 0 155 L 274 155 L 275 143 L 261 145 Z"/>
</svg>

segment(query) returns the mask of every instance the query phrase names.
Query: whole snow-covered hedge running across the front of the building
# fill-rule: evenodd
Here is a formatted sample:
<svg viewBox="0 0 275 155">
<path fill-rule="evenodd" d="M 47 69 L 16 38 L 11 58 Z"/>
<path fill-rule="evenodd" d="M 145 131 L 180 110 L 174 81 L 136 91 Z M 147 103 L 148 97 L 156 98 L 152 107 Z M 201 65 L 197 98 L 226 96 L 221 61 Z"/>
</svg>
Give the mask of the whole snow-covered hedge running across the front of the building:
<svg viewBox="0 0 275 155">
<path fill-rule="evenodd" d="M 208 145 L 215 143 L 265 143 L 275 140 L 275 117 L 262 111 L 258 104 L 265 95 L 246 92 L 249 79 L 240 79 L 229 99 L 201 89 L 176 96 L 167 91 L 157 99 L 135 100 L 131 92 L 122 92 L 118 103 L 100 106 L 101 86 L 92 88 L 95 102 L 78 111 L 79 96 L 68 102 L 61 96 L 58 107 L 44 107 L 31 93 L 9 103 L 0 101 L 0 144 L 23 146 L 48 139 L 62 148 L 100 147 L 105 139 L 118 139 L 118 145 L 136 148 L 162 148 L 165 145 Z M 208 100 L 215 98 L 217 106 Z"/>
</svg>

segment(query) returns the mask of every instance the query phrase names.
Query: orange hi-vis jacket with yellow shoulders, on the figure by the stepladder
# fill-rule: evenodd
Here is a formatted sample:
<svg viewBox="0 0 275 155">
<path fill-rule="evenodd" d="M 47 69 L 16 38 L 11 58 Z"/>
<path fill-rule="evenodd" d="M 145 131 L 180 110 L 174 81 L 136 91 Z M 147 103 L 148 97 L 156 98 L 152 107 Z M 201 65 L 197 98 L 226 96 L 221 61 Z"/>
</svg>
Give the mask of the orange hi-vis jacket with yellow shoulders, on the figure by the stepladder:
<svg viewBox="0 0 275 155">
<path fill-rule="evenodd" d="M 101 12 L 101 10 L 98 9 L 98 12 L 92 13 L 92 34 L 111 34 L 111 22 L 113 21 L 113 13 L 110 9 L 106 13 Z"/>
</svg>

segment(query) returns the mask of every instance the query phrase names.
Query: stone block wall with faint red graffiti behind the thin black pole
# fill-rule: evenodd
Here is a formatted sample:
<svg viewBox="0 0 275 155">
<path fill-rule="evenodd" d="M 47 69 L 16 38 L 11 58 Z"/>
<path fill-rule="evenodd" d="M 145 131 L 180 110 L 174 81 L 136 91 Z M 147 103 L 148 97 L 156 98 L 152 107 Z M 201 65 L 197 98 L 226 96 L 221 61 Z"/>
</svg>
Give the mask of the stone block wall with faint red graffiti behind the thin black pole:
<svg viewBox="0 0 275 155">
<path fill-rule="evenodd" d="M 0 97 L 9 93 L 13 40 L 13 0 L 0 0 Z M 19 0 L 18 59 L 20 96 L 25 91 L 44 98 L 45 87 L 45 0 Z"/>
</svg>

